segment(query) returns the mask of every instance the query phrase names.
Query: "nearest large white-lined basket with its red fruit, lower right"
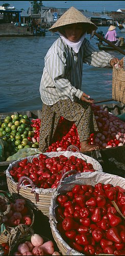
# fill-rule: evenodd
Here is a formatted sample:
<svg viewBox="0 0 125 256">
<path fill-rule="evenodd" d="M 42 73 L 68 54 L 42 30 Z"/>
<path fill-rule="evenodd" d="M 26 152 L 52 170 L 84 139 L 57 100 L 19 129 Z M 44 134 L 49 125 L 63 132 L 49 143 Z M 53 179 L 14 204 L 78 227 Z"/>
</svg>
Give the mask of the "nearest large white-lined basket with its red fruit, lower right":
<svg viewBox="0 0 125 256">
<path fill-rule="evenodd" d="M 125 183 L 107 173 L 67 177 L 49 208 L 53 237 L 63 255 L 125 255 Z"/>
</svg>

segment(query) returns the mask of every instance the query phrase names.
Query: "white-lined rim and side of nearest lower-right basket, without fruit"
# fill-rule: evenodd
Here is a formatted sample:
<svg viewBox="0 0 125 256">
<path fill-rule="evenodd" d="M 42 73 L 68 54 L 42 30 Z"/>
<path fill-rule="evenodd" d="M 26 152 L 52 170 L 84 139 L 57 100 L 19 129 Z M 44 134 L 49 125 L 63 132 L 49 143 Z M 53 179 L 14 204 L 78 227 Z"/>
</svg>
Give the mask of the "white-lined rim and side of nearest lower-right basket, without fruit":
<svg viewBox="0 0 125 256">
<path fill-rule="evenodd" d="M 73 175 L 74 177 L 72 178 L 67 177 L 63 181 L 62 184 L 57 188 L 55 193 L 52 196 L 51 199 L 51 206 L 49 207 L 49 223 L 51 226 L 52 234 L 55 239 L 55 242 L 57 243 L 57 246 L 59 250 L 61 251 L 62 255 L 85 255 L 81 252 L 78 252 L 74 249 L 72 249 L 66 241 L 63 240 L 61 237 L 60 232 L 57 229 L 57 220 L 56 220 L 56 214 L 55 214 L 55 209 L 56 209 L 56 199 L 59 194 L 65 194 L 67 191 L 71 190 L 74 184 L 89 184 L 89 185 L 95 185 L 96 183 L 104 183 L 104 184 L 112 184 L 113 186 L 119 185 L 122 188 L 125 189 L 125 183 L 124 183 L 124 178 L 121 178 L 116 175 L 111 175 L 107 173 L 101 173 L 101 172 L 94 172 L 94 173 L 81 173 L 81 174 L 76 174 Z M 99 254 L 99 255 L 109 255 L 109 254 Z"/>
</svg>

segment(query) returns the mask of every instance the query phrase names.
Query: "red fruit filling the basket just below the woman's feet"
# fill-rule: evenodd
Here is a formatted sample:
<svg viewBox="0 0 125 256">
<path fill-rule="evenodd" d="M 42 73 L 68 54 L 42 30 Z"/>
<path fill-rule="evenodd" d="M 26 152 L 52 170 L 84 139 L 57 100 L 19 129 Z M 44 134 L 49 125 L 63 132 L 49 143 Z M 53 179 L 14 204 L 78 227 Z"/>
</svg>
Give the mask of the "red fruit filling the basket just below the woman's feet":
<svg viewBox="0 0 125 256">
<path fill-rule="evenodd" d="M 87 163 L 86 160 L 76 156 L 65 157 L 64 155 L 56 157 L 48 157 L 44 154 L 39 154 L 39 157 L 34 157 L 33 161 L 28 161 L 27 158 L 22 159 L 18 164 L 9 170 L 10 175 L 15 182 L 18 182 L 21 177 L 28 177 L 38 188 L 56 188 L 63 174 L 68 170 L 76 170 L 78 173 L 95 172 L 93 165 Z M 24 181 L 25 185 L 29 181 Z"/>
</svg>

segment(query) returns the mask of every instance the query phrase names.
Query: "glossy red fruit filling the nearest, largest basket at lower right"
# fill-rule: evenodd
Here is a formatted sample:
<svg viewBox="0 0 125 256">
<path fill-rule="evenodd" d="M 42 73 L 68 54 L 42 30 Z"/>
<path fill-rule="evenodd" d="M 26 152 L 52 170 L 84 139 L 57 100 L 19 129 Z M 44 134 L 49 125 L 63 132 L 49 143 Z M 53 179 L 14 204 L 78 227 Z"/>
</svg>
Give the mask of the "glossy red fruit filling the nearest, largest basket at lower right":
<svg viewBox="0 0 125 256">
<path fill-rule="evenodd" d="M 57 229 L 71 248 L 86 255 L 125 255 L 125 189 L 76 184 L 56 203 Z"/>
</svg>

